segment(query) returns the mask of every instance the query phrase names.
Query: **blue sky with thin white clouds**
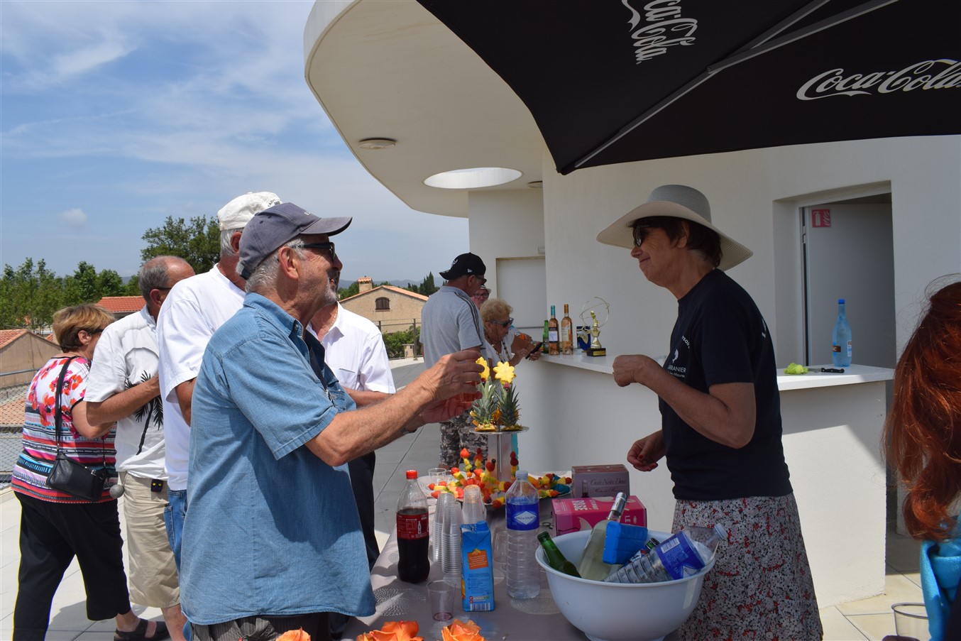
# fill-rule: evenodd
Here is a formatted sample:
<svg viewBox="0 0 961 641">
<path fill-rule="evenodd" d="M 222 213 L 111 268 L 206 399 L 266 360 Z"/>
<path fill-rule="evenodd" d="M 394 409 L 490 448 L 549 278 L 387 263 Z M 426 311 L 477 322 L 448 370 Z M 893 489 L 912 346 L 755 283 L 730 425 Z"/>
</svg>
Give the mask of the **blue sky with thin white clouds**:
<svg viewBox="0 0 961 641">
<path fill-rule="evenodd" d="M 304 80 L 312 0 L 0 0 L 0 263 L 135 274 L 141 235 L 274 191 L 352 215 L 344 278 L 411 279 L 467 251 L 466 219 L 370 177 Z"/>
</svg>

